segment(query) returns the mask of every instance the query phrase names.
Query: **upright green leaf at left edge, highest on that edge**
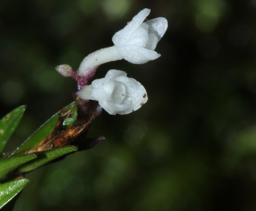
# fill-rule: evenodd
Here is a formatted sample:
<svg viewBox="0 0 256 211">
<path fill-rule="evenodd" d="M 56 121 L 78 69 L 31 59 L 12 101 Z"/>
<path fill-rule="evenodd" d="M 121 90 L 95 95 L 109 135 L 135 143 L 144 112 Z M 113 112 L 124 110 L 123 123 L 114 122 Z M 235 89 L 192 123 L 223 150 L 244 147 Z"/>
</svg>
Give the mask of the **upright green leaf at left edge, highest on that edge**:
<svg viewBox="0 0 256 211">
<path fill-rule="evenodd" d="M 7 113 L 7 115 L 0 120 L 0 152 L 18 126 L 26 107 L 27 106 L 20 106 L 13 109 L 13 111 Z"/>
</svg>

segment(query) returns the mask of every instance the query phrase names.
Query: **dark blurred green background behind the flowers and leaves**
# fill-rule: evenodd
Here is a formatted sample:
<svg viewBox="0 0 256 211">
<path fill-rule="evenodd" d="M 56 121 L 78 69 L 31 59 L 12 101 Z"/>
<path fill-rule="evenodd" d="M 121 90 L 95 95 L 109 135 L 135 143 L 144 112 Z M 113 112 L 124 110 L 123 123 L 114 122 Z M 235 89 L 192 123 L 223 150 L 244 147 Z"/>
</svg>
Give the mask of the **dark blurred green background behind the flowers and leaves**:
<svg viewBox="0 0 256 211">
<path fill-rule="evenodd" d="M 0 116 L 27 111 L 7 150 L 73 101 L 54 69 L 112 46 L 144 8 L 169 27 L 158 60 L 126 71 L 148 102 L 105 111 L 88 137 L 106 140 L 26 177 L 14 210 L 256 210 L 255 0 L 1 0 Z"/>
</svg>

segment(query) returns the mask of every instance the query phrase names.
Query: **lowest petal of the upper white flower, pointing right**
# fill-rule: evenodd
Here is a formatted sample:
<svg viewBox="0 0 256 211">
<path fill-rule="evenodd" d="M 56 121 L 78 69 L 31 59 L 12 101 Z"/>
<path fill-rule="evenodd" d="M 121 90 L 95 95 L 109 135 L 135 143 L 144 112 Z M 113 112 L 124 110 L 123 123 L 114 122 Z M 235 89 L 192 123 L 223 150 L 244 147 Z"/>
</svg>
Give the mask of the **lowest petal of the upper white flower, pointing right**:
<svg viewBox="0 0 256 211">
<path fill-rule="evenodd" d="M 133 64 L 144 64 L 161 56 L 154 50 L 148 50 L 133 45 L 118 47 L 118 52 L 126 61 Z"/>
</svg>

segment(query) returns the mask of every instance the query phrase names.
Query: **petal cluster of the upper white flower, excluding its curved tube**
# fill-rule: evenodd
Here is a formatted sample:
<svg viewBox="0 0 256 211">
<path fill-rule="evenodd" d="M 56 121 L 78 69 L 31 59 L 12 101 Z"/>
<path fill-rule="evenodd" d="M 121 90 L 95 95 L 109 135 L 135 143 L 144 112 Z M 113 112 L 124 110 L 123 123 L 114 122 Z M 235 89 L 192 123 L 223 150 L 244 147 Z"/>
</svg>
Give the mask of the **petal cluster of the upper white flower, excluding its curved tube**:
<svg viewBox="0 0 256 211">
<path fill-rule="evenodd" d="M 148 14 L 150 9 L 140 11 L 112 38 L 118 53 L 133 64 L 144 64 L 161 56 L 154 50 L 166 33 L 168 23 L 165 18 L 155 18 L 142 23 Z"/>
</svg>

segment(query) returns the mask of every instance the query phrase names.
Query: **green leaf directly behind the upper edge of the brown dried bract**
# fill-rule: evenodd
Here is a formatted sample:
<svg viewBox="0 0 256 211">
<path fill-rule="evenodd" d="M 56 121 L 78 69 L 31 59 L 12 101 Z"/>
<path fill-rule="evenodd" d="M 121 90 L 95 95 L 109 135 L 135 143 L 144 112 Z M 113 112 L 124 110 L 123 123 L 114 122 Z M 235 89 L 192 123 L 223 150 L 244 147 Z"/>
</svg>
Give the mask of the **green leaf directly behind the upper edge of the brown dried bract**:
<svg viewBox="0 0 256 211">
<path fill-rule="evenodd" d="M 75 107 L 75 102 L 69 104 L 67 109 L 69 110 L 71 106 Z M 24 143 L 15 151 L 14 154 L 23 153 L 31 149 L 32 147 L 40 144 L 49 134 L 52 133 L 55 124 L 57 123 L 59 117 L 59 112 L 55 113 L 50 119 L 46 121 L 40 128 L 38 128 L 35 133 L 33 133 Z"/>
</svg>

